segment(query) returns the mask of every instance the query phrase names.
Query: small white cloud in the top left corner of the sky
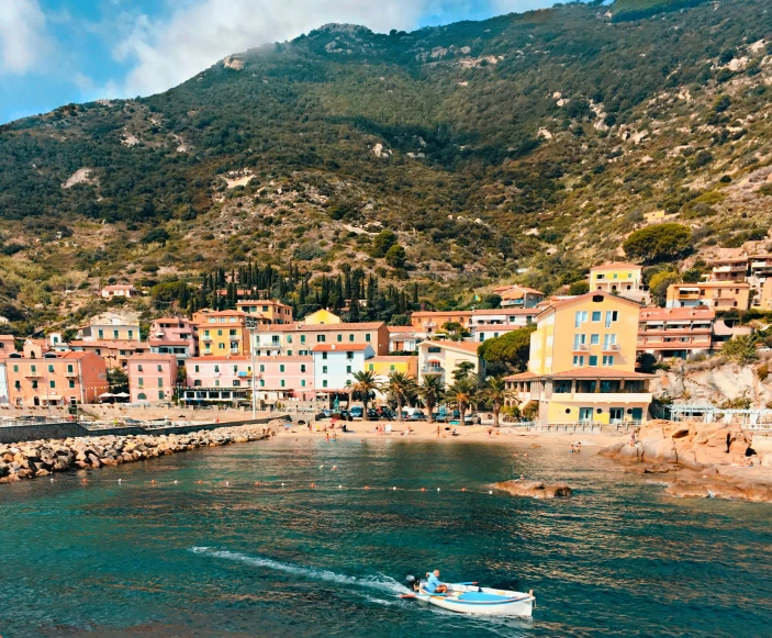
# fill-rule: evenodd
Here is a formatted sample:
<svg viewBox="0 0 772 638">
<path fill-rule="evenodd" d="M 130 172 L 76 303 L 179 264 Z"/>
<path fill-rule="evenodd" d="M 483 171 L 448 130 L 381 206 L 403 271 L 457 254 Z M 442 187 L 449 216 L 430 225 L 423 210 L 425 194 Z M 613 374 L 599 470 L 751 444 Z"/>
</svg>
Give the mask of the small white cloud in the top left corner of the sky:
<svg viewBox="0 0 772 638">
<path fill-rule="evenodd" d="M 37 0 L 3 0 L 0 8 L 0 74 L 24 75 L 51 53 L 46 19 Z"/>
</svg>

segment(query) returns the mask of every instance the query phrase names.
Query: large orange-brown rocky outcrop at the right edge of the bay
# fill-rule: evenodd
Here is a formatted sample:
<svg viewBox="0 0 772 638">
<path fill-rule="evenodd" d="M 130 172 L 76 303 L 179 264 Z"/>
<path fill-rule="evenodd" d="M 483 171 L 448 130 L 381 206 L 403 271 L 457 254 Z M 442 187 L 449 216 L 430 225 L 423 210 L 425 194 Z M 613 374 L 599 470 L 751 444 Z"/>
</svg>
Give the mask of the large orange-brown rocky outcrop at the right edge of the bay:
<svg viewBox="0 0 772 638">
<path fill-rule="evenodd" d="M 672 496 L 772 503 L 772 438 L 739 426 L 656 421 L 641 427 L 635 444 L 617 441 L 600 454 L 651 463 L 641 473 L 659 474 Z"/>
</svg>

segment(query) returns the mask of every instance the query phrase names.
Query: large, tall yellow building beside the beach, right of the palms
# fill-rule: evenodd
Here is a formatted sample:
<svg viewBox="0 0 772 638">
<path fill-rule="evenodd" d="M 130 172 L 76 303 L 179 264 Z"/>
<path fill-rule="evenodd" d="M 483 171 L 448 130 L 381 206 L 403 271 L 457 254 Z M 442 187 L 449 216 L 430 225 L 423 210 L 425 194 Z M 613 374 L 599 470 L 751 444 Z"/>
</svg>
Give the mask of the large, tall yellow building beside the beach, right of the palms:
<svg viewBox="0 0 772 638">
<path fill-rule="evenodd" d="M 650 374 L 635 371 L 638 315 L 634 301 L 591 291 L 537 317 L 528 371 L 505 380 L 521 408 L 546 423 L 646 421 Z"/>
</svg>

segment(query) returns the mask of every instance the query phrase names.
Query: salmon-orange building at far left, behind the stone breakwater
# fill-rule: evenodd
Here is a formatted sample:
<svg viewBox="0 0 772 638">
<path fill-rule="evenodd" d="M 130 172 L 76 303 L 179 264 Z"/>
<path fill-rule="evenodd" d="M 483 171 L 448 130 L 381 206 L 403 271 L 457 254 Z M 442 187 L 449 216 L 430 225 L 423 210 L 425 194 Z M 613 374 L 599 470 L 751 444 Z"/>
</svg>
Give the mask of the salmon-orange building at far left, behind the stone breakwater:
<svg viewBox="0 0 772 638">
<path fill-rule="evenodd" d="M 43 358 L 21 352 L 5 359 L 9 402 L 12 405 L 96 403 L 108 391 L 108 369 L 93 352 L 47 352 Z"/>
</svg>

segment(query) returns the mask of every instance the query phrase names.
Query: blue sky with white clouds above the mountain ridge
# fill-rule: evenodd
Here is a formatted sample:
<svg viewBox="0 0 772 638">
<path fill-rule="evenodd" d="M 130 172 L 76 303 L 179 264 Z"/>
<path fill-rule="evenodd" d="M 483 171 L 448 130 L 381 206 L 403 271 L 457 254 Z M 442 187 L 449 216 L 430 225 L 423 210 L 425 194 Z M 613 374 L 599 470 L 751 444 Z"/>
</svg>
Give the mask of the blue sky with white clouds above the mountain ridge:
<svg viewBox="0 0 772 638">
<path fill-rule="evenodd" d="M 555 0 L 0 0 L 0 124 L 169 89 L 329 22 L 412 31 Z"/>
</svg>

